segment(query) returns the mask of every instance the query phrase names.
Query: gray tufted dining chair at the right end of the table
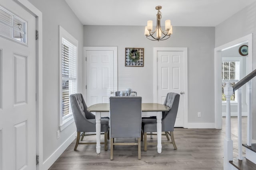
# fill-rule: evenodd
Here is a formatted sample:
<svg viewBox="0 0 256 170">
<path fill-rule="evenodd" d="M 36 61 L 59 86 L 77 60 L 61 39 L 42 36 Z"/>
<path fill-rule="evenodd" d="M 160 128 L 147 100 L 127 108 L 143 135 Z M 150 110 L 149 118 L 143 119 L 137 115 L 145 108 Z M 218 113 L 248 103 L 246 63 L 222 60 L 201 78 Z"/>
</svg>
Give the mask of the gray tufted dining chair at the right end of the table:
<svg viewBox="0 0 256 170">
<path fill-rule="evenodd" d="M 174 149 L 177 149 L 175 141 L 174 141 L 174 124 L 178 112 L 178 106 L 180 102 L 180 95 L 177 93 L 168 93 L 166 99 L 164 101 L 164 105 L 170 107 L 169 111 L 162 113 L 162 132 L 165 132 L 166 138 L 170 141 L 168 135 L 170 135 L 172 141 L 168 143 L 172 143 Z M 144 134 L 144 151 L 147 151 L 147 145 L 156 144 L 156 143 L 147 143 L 147 133 L 148 132 L 156 132 L 156 118 L 144 118 L 142 119 L 142 132 Z M 150 133 L 152 135 L 152 133 Z"/>
</svg>

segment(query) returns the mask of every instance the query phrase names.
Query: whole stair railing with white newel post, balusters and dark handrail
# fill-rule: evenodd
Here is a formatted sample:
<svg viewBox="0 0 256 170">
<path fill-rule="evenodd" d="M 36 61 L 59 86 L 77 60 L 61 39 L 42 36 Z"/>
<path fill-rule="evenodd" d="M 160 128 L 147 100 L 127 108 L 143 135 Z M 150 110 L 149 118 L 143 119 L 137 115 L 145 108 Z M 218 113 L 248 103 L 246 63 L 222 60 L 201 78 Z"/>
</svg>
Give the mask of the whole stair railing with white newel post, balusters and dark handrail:
<svg viewBox="0 0 256 170">
<path fill-rule="evenodd" d="M 242 87 L 247 82 L 247 92 L 249 107 L 247 115 L 247 145 L 252 145 L 252 78 L 256 76 L 256 70 L 245 76 L 233 87 L 231 82 L 226 82 L 224 94 L 226 95 L 226 136 L 224 139 L 224 170 L 231 170 L 232 165 L 229 161 L 233 160 L 233 141 L 231 139 L 231 117 L 230 117 L 230 98 L 233 92 L 238 90 L 238 159 L 242 160 Z"/>
</svg>

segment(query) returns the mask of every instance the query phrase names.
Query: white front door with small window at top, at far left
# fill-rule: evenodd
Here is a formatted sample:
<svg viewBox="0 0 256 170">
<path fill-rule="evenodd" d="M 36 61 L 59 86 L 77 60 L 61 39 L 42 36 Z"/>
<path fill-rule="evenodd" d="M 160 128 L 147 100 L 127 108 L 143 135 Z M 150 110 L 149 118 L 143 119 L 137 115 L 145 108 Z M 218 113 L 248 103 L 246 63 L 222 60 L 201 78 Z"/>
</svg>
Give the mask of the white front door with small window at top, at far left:
<svg viewBox="0 0 256 170">
<path fill-rule="evenodd" d="M 0 37 L 0 170 L 36 170 L 36 18 L 12 0 L 0 6 L 11 12 L 1 11 L 0 34 L 13 23 L 13 37 L 27 42 Z"/>
</svg>

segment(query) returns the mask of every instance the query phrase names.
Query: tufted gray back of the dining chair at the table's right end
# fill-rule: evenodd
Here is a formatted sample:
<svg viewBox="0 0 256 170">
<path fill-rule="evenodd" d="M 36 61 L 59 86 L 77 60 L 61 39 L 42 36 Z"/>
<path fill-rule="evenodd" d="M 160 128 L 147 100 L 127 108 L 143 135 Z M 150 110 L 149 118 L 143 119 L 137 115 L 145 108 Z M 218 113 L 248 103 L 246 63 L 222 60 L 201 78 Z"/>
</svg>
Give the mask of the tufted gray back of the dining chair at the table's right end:
<svg viewBox="0 0 256 170">
<path fill-rule="evenodd" d="M 164 105 L 170 107 L 169 111 L 163 112 L 162 117 L 162 131 L 173 131 L 176 121 L 178 106 L 180 102 L 180 95 L 177 93 L 168 93 L 164 101 Z"/>
</svg>

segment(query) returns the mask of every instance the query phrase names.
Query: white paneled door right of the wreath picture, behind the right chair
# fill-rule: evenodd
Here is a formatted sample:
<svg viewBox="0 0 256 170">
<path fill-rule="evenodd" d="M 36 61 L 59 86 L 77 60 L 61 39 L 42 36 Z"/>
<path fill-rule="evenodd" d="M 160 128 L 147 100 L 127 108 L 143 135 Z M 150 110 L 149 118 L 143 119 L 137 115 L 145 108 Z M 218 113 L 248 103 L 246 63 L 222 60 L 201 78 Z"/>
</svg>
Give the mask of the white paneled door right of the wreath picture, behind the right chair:
<svg viewBox="0 0 256 170">
<path fill-rule="evenodd" d="M 169 92 L 180 94 L 175 127 L 184 127 L 184 91 L 184 52 L 157 51 L 157 102 Z"/>
</svg>

